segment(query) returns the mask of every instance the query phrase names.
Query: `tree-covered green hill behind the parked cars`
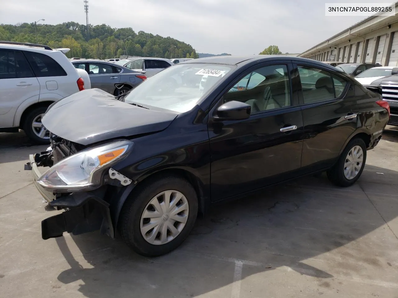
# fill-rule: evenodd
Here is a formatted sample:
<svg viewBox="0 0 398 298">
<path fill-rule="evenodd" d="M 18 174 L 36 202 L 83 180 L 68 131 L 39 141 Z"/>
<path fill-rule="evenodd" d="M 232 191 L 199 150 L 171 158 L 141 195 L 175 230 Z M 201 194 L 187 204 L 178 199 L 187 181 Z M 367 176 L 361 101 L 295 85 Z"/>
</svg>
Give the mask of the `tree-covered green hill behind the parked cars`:
<svg viewBox="0 0 398 298">
<path fill-rule="evenodd" d="M 0 25 L 0 40 L 36 43 L 35 24 Z M 191 45 L 132 28 L 112 28 L 106 24 L 87 28 L 76 22 L 58 25 L 37 24 L 37 42 L 52 48 L 70 48 L 66 56 L 81 58 L 119 58 L 121 55 L 159 58 L 197 58 Z"/>
</svg>

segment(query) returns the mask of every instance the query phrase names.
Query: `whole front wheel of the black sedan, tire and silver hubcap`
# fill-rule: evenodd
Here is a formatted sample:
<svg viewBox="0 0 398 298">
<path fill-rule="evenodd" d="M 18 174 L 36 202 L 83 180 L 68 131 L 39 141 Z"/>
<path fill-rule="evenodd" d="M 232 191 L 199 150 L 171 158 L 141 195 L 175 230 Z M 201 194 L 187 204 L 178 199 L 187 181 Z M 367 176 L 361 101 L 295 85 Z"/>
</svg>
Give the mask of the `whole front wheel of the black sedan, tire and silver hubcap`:
<svg viewBox="0 0 398 298">
<path fill-rule="evenodd" d="M 143 183 L 123 206 L 121 236 L 140 255 L 164 255 L 191 232 L 198 212 L 197 195 L 188 181 L 176 176 Z"/>
</svg>

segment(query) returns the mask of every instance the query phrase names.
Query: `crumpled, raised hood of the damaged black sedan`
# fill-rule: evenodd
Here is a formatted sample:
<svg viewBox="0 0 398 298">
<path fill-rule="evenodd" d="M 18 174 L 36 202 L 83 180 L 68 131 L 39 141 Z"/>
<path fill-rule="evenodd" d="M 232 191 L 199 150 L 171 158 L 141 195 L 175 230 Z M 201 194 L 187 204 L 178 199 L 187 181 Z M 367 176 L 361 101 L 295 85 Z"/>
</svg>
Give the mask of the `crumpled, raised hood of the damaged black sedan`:
<svg viewBox="0 0 398 298">
<path fill-rule="evenodd" d="M 166 129 L 177 117 L 115 100 L 100 89 L 88 89 L 53 103 L 42 118 L 53 134 L 82 145 Z"/>
</svg>

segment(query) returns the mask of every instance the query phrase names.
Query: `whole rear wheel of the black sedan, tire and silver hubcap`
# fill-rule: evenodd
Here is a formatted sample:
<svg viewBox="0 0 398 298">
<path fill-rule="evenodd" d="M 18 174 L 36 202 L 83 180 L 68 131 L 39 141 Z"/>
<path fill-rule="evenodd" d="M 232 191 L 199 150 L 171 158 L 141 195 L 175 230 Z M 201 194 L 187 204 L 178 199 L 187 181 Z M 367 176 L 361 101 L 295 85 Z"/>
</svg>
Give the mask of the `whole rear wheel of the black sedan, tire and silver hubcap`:
<svg viewBox="0 0 398 298">
<path fill-rule="evenodd" d="M 351 186 L 361 176 L 366 162 L 366 145 L 362 139 L 351 140 L 338 162 L 327 171 L 328 178 L 338 186 Z"/>
</svg>

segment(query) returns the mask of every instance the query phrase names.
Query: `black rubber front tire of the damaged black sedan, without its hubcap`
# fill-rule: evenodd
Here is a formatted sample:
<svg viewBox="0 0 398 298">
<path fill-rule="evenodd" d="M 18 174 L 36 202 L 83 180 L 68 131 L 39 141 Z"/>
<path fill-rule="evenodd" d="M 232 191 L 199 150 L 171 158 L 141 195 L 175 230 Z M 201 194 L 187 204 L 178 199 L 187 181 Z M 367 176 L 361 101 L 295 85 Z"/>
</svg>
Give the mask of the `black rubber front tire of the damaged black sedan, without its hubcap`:
<svg viewBox="0 0 398 298">
<path fill-rule="evenodd" d="M 156 257 L 176 249 L 187 238 L 196 221 L 198 199 L 192 185 L 178 176 L 157 176 L 143 183 L 138 192 L 128 197 L 123 205 L 119 217 L 119 231 L 123 240 L 136 253 L 146 257 Z M 165 244 L 150 244 L 141 234 L 141 216 L 151 199 L 166 190 L 176 190 L 185 196 L 189 206 L 188 218 L 176 238 Z"/>
</svg>

